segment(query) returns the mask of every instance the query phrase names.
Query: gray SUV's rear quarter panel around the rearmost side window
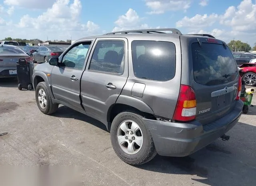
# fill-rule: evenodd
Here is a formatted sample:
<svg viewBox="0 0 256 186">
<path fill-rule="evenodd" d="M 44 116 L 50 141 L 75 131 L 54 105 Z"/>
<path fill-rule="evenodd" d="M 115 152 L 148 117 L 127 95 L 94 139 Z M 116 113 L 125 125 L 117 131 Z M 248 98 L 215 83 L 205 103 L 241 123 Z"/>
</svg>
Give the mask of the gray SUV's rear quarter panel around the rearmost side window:
<svg viewBox="0 0 256 186">
<path fill-rule="evenodd" d="M 134 75 L 133 63 L 132 63 L 132 41 L 134 40 L 149 40 L 149 41 L 164 41 L 172 42 L 175 45 L 176 49 L 176 67 L 175 67 L 175 76 L 173 79 L 168 81 L 153 81 L 147 79 L 140 79 Z M 146 111 L 148 113 L 154 113 L 156 116 L 165 117 L 171 119 L 176 103 L 178 100 L 178 94 L 180 91 L 180 76 L 181 76 L 181 49 L 180 49 L 180 38 L 179 36 L 133 36 L 128 38 L 128 66 L 129 66 L 129 77 L 126 85 L 117 100 L 117 103 L 128 103 L 128 97 L 132 99 L 137 99 L 138 104 L 130 105 L 141 111 Z M 132 95 L 132 89 L 135 83 L 144 84 L 144 90 L 139 93 L 140 96 Z M 125 99 L 126 100 L 122 100 Z"/>
</svg>

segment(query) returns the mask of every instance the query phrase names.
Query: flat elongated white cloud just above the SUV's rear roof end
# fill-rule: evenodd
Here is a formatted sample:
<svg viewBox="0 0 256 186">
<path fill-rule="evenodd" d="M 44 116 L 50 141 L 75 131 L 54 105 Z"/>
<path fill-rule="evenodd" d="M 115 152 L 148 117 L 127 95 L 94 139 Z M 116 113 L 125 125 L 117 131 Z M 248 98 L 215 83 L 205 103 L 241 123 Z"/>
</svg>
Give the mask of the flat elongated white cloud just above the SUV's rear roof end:
<svg viewBox="0 0 256 186">
<path fill-rule="evenodd" d="M 212 26 L 216 21 L 218 20 L 217 14 L 211 14 L 211 15 L 200 15 L 196 14 L 192 18 L 188 18 L 185 16 L 182 20 L 176 22 L 176 27 L 188 27 L 188 28 L 198 28 L 198 27 L 208 27 Z"/>
</svg>

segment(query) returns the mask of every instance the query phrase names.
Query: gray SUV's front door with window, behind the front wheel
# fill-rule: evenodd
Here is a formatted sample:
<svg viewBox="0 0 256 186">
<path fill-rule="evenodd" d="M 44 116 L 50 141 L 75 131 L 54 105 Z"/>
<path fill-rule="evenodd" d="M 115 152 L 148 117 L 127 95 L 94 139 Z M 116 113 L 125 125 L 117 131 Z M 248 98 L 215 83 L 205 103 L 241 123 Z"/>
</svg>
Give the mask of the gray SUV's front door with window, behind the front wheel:
<svg viewBox="0 0 256 186">
<path fill-rule="evenodd" d="M 74 44 L 60 56 L 60 65 L 52 69 L 52 92 L 54 97 L 66 106 L 82 109 L 79 97 L 80 80 L 92 42 L 91 40 Z"/>
</svg>

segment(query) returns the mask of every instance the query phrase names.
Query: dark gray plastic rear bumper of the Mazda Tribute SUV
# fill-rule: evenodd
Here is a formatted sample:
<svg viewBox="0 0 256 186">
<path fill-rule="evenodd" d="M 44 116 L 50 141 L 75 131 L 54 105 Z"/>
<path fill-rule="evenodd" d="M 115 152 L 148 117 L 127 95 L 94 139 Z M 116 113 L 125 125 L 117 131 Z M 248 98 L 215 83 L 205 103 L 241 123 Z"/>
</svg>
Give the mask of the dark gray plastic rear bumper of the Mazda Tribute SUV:
<svg viewBox="0 0 256 186">
<path fill-rule="evenodd" d="M 236 101 L 232 112 L 209 123 L 201 125 L 198 121 L 191 123 L 169 123 L 144 119 L 156 151 L 162 156 L 188 156 L 212 143 L 228 132 L 242 115 L 243 102 Z"/>
</svg>

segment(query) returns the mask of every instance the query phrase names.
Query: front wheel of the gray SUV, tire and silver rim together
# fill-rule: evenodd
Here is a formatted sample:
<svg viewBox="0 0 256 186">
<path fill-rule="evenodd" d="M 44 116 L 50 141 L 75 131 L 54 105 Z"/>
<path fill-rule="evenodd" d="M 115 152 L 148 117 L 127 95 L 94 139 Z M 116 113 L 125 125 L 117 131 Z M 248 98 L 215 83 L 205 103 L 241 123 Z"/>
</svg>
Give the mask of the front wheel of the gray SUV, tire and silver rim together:
<svg viewBox="0 0 256 186">
<path fill-rule="evenodd" d="M 48 90 L 45 82 L 38 83 L 38 85 L 36 86 L 35 92 L 36 92 L 36 104 L 42 113 L 46 115 L 50 115 L 57 111 L 59 105 L 54 104 L 52 102 L 50 91 Z"/>
</svg>

